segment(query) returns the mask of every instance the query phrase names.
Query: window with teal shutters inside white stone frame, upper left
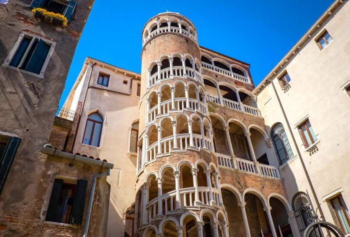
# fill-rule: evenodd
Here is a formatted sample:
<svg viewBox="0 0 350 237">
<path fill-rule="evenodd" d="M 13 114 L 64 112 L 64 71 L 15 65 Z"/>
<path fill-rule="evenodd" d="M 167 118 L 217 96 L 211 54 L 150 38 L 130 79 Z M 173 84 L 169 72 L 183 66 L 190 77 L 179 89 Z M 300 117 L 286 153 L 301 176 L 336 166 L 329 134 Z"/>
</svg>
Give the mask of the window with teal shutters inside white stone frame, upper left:
<svg viewBox="0 0 350 237">
<path fill-rule="evenodd" d="M 24 33 L 19 36 L 18 41 L 9 65 L 35 74 L 42 74 L 51 44 L 40 37 Z"/>
</svg>

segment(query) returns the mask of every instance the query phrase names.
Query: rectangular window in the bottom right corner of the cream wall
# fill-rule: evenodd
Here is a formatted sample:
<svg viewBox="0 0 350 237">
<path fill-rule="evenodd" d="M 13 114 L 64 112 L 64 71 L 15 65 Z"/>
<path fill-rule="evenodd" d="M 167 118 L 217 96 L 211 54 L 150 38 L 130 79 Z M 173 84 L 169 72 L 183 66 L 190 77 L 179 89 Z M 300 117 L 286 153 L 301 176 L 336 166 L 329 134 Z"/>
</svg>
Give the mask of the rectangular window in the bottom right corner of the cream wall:
<svg viewBox="0 0 350 237">
<path fill-rule="evenodd" d="M 330 199 L 338 225 L 343 234 L 350 233 L 350 216 L 341 195 Z"/>
</svg>

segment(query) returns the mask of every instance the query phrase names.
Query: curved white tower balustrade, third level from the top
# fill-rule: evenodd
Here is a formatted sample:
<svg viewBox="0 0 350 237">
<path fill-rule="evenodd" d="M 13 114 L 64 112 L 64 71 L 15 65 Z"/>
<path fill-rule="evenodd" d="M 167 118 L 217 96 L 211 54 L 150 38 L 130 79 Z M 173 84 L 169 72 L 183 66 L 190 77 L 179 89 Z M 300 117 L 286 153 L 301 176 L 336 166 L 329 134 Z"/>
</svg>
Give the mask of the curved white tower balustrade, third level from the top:
<svg viewBox="0 0 350 237">
<path fill-rule="evenodd" d="M 184 108 L 186 108 L 186 98 L 184 97 L 175 98 L 174 101 L 175 101 L 174 110 L 183 110 Z M 188 103 L 189 103 L 189 109 L 199 110 L 200 112 L 207 114 L 206 106 L 203 102 L 200 101 L 198 103 L 198 100 L 194 98 L 188 98 Z M 171 99 L 167 99 L 160 103 L 159 112 L 158 112 L 158 105 L 154 105 L 151 109 L 149 109 L 147 113 L 148 122 L 153 121 L 156 118 L 156 115 L 161 116 L 161 115 L 169 114 L 170 109 L 171 109 Z"/>
</svg>

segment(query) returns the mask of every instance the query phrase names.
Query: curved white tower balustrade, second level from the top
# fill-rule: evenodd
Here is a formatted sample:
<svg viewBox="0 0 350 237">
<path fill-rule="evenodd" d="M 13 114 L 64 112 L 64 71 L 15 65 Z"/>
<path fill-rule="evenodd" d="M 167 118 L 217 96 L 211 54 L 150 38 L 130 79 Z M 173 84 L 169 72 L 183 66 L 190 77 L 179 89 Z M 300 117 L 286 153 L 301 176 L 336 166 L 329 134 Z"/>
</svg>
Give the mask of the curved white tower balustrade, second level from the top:
<svg viewBox="0 0 350 237">
<path fill-rule="evenodd" d="M 201 74 L 197 70 L 194 71 L 193 68 L 190 68 L 188 66 L 185 67 L 185 75 L 183 74 L 183 66 L 173 66 L 172 74 L 170 72 L 170 67 L 161 69 L 159 74 L 158 72 L 155 72 L 148 78 L 147 86 L 151 87 L 161 80 L 171 79 L 173 76 L 187 76 L 194 80 L 203 82 Z"/>
</svg>

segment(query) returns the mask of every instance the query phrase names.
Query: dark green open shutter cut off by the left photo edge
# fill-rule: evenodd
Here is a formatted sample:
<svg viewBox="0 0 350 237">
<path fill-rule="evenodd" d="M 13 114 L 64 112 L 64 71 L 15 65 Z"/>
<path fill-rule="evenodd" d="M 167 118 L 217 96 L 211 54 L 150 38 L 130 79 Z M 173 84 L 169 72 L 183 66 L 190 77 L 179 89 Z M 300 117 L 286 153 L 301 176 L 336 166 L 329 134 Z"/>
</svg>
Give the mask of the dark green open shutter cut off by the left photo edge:
<svg viewBox="0 0 350 237">
<path fill-rule="evenodd" d="M 0 194 L 2 187 L 5 184 L 7 174 L 11 167 L 14 155 L 16 154 L 18 145 L 20 143 L 19 137 L 10 137 L 6 144 L 5 150 L 1 156 L 0 162 Z"/>
</svg>

